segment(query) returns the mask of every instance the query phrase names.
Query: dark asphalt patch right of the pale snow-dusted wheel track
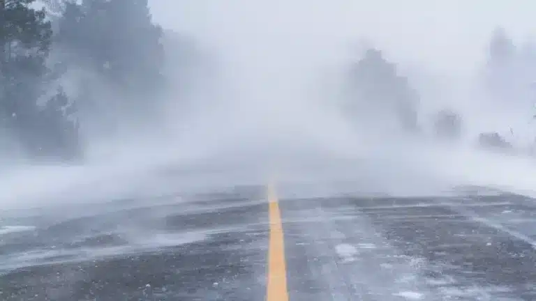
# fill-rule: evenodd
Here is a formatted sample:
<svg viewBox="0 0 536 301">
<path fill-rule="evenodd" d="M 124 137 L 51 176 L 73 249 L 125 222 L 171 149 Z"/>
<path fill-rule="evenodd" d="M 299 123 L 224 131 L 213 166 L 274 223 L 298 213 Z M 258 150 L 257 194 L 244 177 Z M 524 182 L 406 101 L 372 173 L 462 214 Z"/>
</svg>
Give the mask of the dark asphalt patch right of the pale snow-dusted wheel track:
<svg viewBox="0 0 536 301">
<path fill-rule="evenodd" d="M 509 229 L 512 220 L 500 216 L 517 210 L 533 217 L 535 227 L 536 203 L 532 199 L 502 194 L 418 201 L 354 199 L 352 203 L 397 249 L 424 258 L 427 267 L 423 272 L 436 290 L 457 292 L 459 300 L 490 296 L 491 300 L 536 300 L 535 248 L 475 219 L 490 217 Z"/>
</svg>

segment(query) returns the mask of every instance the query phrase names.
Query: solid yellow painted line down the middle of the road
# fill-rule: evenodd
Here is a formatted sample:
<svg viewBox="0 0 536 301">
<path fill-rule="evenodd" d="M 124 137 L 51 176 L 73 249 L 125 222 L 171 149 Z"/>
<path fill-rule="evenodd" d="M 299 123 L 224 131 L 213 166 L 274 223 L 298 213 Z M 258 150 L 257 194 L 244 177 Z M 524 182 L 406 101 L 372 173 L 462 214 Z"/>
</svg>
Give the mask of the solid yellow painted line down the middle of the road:
<svg viewBox="0 0 536 301">
<path fill-rule="evenodd" d="M 268 187 L 270 237 L 268 249 L 267 301 L 288 301 L 287 267 L 281 211 L 274 185 Z"/>
</svg>

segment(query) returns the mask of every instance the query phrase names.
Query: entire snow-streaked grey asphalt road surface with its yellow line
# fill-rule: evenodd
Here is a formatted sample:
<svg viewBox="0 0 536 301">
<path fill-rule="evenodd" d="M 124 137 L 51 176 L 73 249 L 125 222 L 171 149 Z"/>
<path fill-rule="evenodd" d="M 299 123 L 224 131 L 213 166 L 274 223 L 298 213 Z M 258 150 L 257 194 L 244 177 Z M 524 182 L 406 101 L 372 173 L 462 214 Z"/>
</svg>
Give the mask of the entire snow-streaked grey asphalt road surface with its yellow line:
<svg viewBox="0 0 536 301">
<path fill-rule="evenodd" d="M 150 203 L 4 216 L 0 300 L 536 300 L 527 197 L 237 187 Z"/>
</svg>

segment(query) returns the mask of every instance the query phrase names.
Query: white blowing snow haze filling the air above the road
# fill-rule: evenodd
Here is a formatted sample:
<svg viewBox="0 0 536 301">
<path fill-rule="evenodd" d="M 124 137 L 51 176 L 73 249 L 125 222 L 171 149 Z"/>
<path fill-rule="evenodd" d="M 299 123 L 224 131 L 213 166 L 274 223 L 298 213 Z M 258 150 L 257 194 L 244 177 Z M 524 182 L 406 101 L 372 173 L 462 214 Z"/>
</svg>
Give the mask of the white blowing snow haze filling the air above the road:
<svg viewBox="0 0 536 301">
<path fill-rule="evenodd" d="M 532 194 L 536 187 L 533 160 L 472 147 L 478 132 L 507 133 L 510 121 L 519 122 L 516 133 L 530 133 L 523 121 L 532 113 L 525 107 L 506 112 L 484 105 L 472 77 L 495 26 L 505 26 L 518 39 L 529 36 L 530 26 L 523 22 L 532 17 L 530 9 L 487 1 L 172 2 L 152 1 L 156 22 L 194 38 L 217 70 L 195 82 L 186 114 L 176 105 L 183 100 L 171 95 L 174 109 L 163 113 L 158 125 L 113 140 L 94 139 L 93 156 L 83 166 L 5 169 L 3 208 L 262 185 L 268 173 L 277 173 L 279 180 L 349 180 L 367 192 L 392 194 L 439 193 L 452 185 Z M 410 81 L 423 92 L 425 129 L 437 109 L 461 112 L 467 122 L 463 143 L 443 147 L 385 137 L 373 128 L 355 128 L 343 117 L 338 88 L 359 59 L 364 39 L 415 75 Z M 175 178 L 160 172 L 178 167 L 223 172 Z"/>
</svg>

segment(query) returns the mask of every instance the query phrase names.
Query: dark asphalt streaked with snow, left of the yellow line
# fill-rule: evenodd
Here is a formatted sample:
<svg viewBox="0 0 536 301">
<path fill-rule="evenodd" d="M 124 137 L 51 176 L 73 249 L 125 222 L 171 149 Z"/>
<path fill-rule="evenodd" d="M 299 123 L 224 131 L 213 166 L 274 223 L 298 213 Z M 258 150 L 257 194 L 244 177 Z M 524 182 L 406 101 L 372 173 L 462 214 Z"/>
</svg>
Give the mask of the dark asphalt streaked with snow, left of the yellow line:
<svg viewBox="0 0 536 301">
<path fill-rule="evenodd" d="M 161 226 L 161 230 L 179 238 L 181 233 L 205 236 L 198 241 L 133 254 L 85 261 L 68 258 L 75 261 L 17 268 L 0 276 L 0 300 L 258 300 L 265 295 L 267 204 L 251 201 L 228 199 L 233 207 L 193 215 L 182 214 L 180 204 L 175 210 L 168 207 L 165 215 L 160 215 L 158 208 L 114 213 L 114 218 L 94 215 L 12 237 L 1 242 L 2 248 L 12 253 L 36 247 L 87 247 L 91 253 L 91 248 L 128 244 L 113 231 L 123 223 L 135 224 L 135 220 Z M 151 215 L 151 210 L 159 214 Z M 151 219 L 146 218 L 148 215 Z M 91 232 L 92 236 L 77 239 L 81 233 Z M 47 238 L 54 236 L 56 239 L 47 243 Z M 40 243 L 36 245 L 36 241 Z"/>
</svg>

